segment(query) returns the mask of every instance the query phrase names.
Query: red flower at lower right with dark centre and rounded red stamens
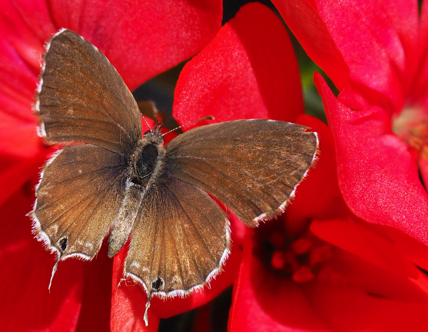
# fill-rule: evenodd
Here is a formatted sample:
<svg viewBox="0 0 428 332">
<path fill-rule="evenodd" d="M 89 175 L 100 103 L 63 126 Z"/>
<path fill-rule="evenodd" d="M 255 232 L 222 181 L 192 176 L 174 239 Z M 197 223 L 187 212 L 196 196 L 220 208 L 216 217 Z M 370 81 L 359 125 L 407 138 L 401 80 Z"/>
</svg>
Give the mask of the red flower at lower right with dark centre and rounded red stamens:
<svg viewBox="0 0 428 332">
<path fill-rule="evenodd" d="M 428 247 L 353 215 L 329 128 L 297 123 L 318 132 L 321 154 L 285 215 L 247 233 L 229 331 L 426 331 L 428 278 L 416 265 L 428 268 Z"/>
</svg>

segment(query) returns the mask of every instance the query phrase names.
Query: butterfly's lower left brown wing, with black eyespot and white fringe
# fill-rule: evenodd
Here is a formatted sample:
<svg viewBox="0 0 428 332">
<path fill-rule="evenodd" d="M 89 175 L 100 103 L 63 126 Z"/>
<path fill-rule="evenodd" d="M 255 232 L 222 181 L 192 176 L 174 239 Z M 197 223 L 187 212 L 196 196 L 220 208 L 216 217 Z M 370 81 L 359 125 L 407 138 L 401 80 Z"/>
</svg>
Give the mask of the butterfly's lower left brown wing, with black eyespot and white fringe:
<svg viewBox="0 0 428 332">
<path fill-rule="evenodd" d="M 123 156 L 96 145 L 65 147 L 44 167 L 34 231 L 61 260 L 92 259 L 125 196 Z"/>
</svg>

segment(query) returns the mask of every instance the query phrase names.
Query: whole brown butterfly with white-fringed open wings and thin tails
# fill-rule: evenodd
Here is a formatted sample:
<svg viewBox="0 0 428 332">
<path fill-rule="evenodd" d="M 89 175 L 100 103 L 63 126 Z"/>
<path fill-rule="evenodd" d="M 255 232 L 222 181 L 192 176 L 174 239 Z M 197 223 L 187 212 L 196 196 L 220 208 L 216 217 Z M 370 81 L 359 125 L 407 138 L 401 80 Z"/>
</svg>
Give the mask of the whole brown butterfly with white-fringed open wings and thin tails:
<svg viewBox="0 0 428 332">
<path fill-rule="evenodd" d="M 61 29 L 47 42 L 34 106 L 39 135 L 65 146 L 43 168 L 31 213 L 57 261 L 91 260 L 109 234 L 113 257 L 130 237 L 124 276 L 152 296 L 184 296 L 221 271 L 227 205 L 246 225 L 273 219 L 314 163 L 316 133 L 273 120 L 208 124 L 163 146 L 142 137 L 131 92 L 107 58 Z M 52 282 L 52 278 L 51 278 Z M 51 284 L 49 284 L 50 286 Z"/>
</svg>

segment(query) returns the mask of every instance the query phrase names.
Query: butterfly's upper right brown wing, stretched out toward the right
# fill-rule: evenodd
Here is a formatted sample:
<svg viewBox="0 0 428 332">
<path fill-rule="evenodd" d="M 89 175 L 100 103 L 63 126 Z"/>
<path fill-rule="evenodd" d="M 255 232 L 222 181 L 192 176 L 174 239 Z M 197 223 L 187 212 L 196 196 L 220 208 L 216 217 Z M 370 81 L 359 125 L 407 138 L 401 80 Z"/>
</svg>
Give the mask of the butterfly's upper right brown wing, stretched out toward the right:
<svg viewBox="0 0 428 332">
<path fill-rule="evenodd" d="M 209 124 L 166 145 L 166 172 L 226 204 L 247 225 L 282 213 L 315 160 L 316 133 L 282 121 Z"/>
</svg>

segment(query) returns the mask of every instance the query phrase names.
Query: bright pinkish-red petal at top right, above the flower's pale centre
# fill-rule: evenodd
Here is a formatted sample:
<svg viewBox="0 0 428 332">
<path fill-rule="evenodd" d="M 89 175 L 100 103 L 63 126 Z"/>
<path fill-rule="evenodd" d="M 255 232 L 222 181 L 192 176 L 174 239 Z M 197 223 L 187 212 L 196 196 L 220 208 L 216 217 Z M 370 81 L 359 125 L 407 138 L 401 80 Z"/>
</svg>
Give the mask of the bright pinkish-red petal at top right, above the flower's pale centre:
<svg viewBox="0 0 428 332">
<path fill-rule="evenodd" d="M 417 1 L 339 5 L 324 0 L 317 1 L 317 8 L 349 66 L 350 80 L 364 86 L 366 99 L 386 110 L 400 109 L 419 59 Z"/>
</svg>

